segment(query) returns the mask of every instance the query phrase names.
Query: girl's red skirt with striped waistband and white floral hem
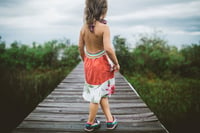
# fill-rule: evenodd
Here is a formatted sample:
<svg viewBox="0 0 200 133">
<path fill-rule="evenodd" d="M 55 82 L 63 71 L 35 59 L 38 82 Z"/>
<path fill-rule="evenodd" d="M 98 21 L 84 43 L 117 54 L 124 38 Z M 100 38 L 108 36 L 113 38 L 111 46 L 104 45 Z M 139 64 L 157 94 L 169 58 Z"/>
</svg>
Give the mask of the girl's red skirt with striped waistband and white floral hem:
<svg viewBox="0 0 200 133">
<path fill-rule="evenodd" d="M 83 98 L 92 103 L 100 103 L 102 97 L 111 96 L 115 90 L 112 63 L 105 54 L 105 51 L 97 54 L 85 53 Z"/>
</svg>

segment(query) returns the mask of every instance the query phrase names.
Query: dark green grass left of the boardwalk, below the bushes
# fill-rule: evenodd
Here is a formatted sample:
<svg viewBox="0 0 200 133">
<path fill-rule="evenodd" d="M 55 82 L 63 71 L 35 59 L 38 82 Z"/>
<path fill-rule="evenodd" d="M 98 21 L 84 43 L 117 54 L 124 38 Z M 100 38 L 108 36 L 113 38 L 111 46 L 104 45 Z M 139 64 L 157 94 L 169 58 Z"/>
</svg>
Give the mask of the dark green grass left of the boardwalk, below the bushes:
<svg viewBox="0 0 200 133">
<path fill-rule="evenodd" d="M 72 67 L 4 72 L 1 78 L 1 131 L 10 132 L 41 102 Z"/>
</svg>

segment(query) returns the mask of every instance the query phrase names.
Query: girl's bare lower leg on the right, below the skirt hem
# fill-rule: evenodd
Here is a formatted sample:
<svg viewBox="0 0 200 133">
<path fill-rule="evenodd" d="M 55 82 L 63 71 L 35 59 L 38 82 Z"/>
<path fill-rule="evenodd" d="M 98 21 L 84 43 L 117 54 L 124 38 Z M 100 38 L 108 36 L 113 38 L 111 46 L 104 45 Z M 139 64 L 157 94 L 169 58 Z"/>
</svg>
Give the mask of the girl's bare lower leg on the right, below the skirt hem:
<svg viewBox="0 0 200 133">
<path fill-rule="evenodd" d="M 113 116 L 110 112 L 108 98 L 107 97 L 101 98 L 100 104 L 101 104 L 101 108 L 106 116 L 107 121 L 113 121 Z"/>
</svg>

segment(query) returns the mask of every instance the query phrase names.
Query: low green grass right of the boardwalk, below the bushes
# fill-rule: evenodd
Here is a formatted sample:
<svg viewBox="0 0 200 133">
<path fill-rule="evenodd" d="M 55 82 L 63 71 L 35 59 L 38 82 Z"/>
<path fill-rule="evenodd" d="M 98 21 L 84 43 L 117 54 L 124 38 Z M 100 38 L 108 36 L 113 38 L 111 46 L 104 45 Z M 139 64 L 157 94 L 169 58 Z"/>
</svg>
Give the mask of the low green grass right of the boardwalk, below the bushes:
<svg viewBox="0 0 200 133">
<path fill-rule="evenodd" d="M 173 75 L 161 79 L 152 74 L 126 78 L 170 133 L 199 128 L 200 80 Z"/>
</svg>

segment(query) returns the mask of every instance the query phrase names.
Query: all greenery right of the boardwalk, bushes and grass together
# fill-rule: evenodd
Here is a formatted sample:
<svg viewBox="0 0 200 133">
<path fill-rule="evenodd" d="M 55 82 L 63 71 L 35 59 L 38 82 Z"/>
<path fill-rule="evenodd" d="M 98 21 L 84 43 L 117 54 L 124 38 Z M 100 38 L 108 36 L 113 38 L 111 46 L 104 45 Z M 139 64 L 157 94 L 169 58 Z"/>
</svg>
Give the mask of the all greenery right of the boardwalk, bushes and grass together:
<svg viewBox="0 0 200 133">
<path fill-rule="evenodd" d="M 178 50 L 158 36 L 142 36 L 129 50 L 125 40 L 113 41 L 121 72 L 151 110 L 171 132 L 198 127 L 200 43 Z"/>
</svg>

